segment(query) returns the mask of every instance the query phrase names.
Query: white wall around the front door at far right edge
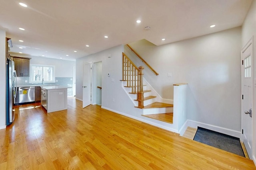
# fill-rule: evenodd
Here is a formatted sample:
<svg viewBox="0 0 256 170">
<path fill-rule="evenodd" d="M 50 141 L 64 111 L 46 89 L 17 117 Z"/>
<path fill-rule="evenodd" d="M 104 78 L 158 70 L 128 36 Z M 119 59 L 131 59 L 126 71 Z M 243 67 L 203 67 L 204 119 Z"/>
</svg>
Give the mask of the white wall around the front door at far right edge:
<svg viewBox="0 0 256 170">
<path fill-rule="evenodd" d="M 249 39 L 254 36 L 254 73 L 253 77 L 254 80 L 256 80 L 256 0 L 253 0 L 250 9 L 248 11 L 248 14 L 244 20 L 244 23 L 242 25 L 242 46 L 246 45 L 246 43 L 249 41 Z M 252 113 L 254 114 L 252 116 L 253 121 L 253 139 L 252 139 L 252 156 L 254 160 L 254 164 L 256 164 L 256 87 L 253 88 L 253 108 Z"/>
</svg>

